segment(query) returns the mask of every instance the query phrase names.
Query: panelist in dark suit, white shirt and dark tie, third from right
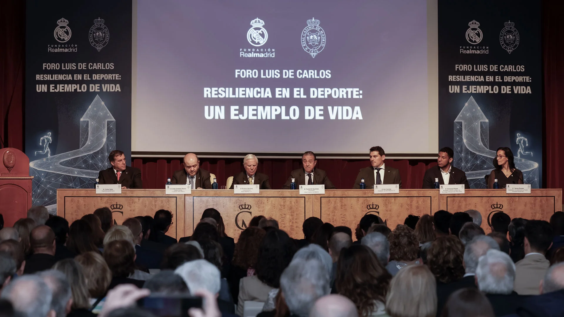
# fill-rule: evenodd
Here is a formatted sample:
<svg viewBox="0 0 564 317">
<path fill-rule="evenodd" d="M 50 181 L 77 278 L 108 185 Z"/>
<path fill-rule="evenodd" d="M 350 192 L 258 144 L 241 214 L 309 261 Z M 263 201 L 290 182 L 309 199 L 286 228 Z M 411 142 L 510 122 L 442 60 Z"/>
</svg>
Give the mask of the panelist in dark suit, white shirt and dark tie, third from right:
<svg viewBox="0 0 564 317">
<path fill-rule="evenodd" d="M 399 170 L 385 166 L 384 160 L 386 153 L 381 147 L 370 148 L 370 164 L 372 167 L 360 169 L 354 186 L 352 189 L 360 188 L 360 180 L 364 178 L 366 188 L 370 188 L 374 184 L 399 184 L 402 188 L 402 178 L 399 176 Z"/>
</svg>

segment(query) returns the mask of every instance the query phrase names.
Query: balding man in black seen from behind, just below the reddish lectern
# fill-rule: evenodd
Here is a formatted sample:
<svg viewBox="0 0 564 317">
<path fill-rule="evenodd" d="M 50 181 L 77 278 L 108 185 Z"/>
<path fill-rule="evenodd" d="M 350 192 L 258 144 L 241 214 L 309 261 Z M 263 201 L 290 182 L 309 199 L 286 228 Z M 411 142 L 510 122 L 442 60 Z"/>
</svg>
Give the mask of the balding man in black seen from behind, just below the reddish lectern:
<svg viewBox="0 0 564 317">
<path fill-rule="evenodd" d="M 24 274 L 33 274 L 49 270 L 55 259 L 55 232 L 49 226 L 37 226 L 29 235 L 29 243 L 33 254 L 25 261 Z"/>
</svg>

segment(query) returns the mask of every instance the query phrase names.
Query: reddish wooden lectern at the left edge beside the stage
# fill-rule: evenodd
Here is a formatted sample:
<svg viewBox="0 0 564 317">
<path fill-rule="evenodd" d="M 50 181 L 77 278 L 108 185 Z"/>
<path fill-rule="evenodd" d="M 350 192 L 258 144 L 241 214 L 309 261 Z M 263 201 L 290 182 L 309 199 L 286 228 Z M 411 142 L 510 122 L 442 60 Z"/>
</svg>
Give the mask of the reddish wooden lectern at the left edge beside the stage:
<svg viewBox="0 0 564 317">
<path fill-rule="evenodd" d="M 0 149 L 0 214 L 4 226 L 11 227 L 17 219 L 27 217 L 32 206 L 32 179 L 29 158 L 16 148 Z"/>
</svg>

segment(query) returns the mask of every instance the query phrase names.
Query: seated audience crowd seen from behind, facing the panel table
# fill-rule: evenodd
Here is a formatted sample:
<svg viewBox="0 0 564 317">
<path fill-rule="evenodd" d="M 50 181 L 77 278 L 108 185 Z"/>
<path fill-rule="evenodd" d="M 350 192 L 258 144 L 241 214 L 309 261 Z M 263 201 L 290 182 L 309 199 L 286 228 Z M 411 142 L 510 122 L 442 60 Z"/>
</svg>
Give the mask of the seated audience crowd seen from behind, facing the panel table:
<svg viewBox="0 0 564 317">
<path fill-rule="evenodd" d="M 171 224 L 163 209 L 121 225 L 108 208 L 70 225 L 29 209 L 0 230 L 0 316 L 158 316 L 138 301 L 151 294 L 203 297 L 192 317 L 564 315 L 562 212 L 497 212 L 487 235 L 477 210 L 394 228 L 367 214 L 354 232 L 310 217 L 303 239 L 260 215 L 237 243 L 213 208 L 178 241 Z"/>
</svg>

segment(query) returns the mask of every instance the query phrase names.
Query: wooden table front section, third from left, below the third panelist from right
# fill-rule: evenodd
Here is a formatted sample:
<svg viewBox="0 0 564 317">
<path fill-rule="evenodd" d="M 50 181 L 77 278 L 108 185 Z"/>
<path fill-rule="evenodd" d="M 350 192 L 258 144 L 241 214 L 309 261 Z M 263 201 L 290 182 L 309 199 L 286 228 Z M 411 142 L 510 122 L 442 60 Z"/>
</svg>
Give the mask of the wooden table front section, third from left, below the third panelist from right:
<svg viewBox="0 0 564 317">
<path fill-rule="evenodd" d="M 373 190 L 328 190 L 316 196 L 314 215 L 333 226 L 347 226 L 354 232 L 365 214 L 379 215 L 392 230 L 409 214 L 433 214 L 439 208 L 437 190 L 400 190 L 378 194 Z"/>
</svg>

